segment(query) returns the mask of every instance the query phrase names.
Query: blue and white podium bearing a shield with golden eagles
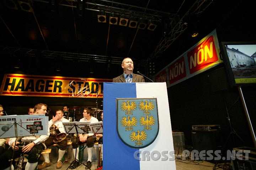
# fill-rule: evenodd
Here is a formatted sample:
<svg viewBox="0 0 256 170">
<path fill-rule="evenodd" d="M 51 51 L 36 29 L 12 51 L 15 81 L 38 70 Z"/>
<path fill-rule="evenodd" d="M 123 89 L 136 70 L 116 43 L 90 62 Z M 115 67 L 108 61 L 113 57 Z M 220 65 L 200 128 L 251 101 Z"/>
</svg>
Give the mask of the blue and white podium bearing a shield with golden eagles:
<svg viewBox="0 0 256 170">
<path fill-rule="evenodd" d="M 104 83 L 103 87 L 103 168 L 112 169 L 114 167 L 115 169 L 122 170 L 168 168 L 175 170 L 174 145 L 171 134 L 166 83 Z M 127 99 L 129 102 L 121 102 L 122 106 L 120 106 L 117 101 L 121 99 L 124 101 Z M 154 108 L 151 107 L 153 110 L 149 110 L 150 113 L 147 113 L 145 109 L 143 111 L 143 106 L 146 104 L 150 106 L 149 101 L 154 101 L 154 99 L 157 102 L 151 103 L 151 106 L 154 106 Z M 148 100 L 148 102 L 145 103 L 145 100 Z M 128 105 L 130 111 L 133 112 L 125 109 Z M 134 110 L 131 109 L 132 105 Z M 144 120 L 150 120 L 150 116 L 153 116 L 154 111 L 158 112 L 158 117 L 151 117 L 151 120 L 155 120 L 151 124 L 151 127 L 153 128 L 158 121 L 158 133 L 155 133 L 156 137 L 153 137 L 153 142 L 149 142 L 149 144 L 144 146 L 145 141 L 151 138 L 151 132 L 143 122 Z M 135 116 L 138 114 L 137 112 L 141 115 Z M 148 119 L 146 115 L 148 115 Z M 119 121 L 120 118 L 123 118 L 121 120 L 123 123 Z M 133 120 L 134 126 L 129 124 L 130 128 L 128 125 L 126 126 L 127 131 L 119 132 L 121 128 L 125 129 L 122 126 L 128 119 L 130 121 Z M 140 130 L 137 128 L 140 128 Z M 136 131 L 134 131 L 135 129 Z M 126 139 L 119 137 L 118 134 L 120 133 L 127 133 L 126 138 L 134 142 L 134 146 L 128 146 L 127 142 L 125 142 Z M 138 135 L 142 136 L 140 139 L 143 140 L 137 141 L 135 144 L 136 140 L 134 136 Z M 139 144 L 139 142 L 142 143 Z"/>
</svg>

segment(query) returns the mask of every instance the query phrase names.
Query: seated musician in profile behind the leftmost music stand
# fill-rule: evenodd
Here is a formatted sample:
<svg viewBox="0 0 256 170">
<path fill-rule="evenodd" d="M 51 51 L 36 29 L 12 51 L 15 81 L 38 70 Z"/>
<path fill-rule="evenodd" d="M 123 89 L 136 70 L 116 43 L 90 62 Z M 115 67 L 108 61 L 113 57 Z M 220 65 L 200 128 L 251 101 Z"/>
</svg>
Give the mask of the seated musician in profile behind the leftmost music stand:
<svg viewBox="0 0 256 170">
<path fill-rule="evenodd" d="M 46 114 L 46 110 L 46 104 L 38 103 L 34 106 L 34 114 Z M 12 153 L 14 152 L 13 150 L 15 150 L 13 159 L 20 157 L 22 152 L 26 153 L 28 154 L 28 162 L 26 164 L 25 170 L 35 169 L 38 164 L 39 155 L 43 149 L 46 149 L 46 146 L 42 142 L 44 142 L 48 137 L 49 135 L 22 137 L 21 141 L 30 141 L 30 143 L 22 149 L 19 149 L 18 147 L 20 142 L 16 142 L 15 144 L 16 138 L 10 138 L 9 145 L 11 148 L 9 148 L 4 154 L 0 156 L 0 160 L 2 161 L 1 168 L 5 169 L 10 166 L 9 160 L 12 159 Z"/>
</svg>

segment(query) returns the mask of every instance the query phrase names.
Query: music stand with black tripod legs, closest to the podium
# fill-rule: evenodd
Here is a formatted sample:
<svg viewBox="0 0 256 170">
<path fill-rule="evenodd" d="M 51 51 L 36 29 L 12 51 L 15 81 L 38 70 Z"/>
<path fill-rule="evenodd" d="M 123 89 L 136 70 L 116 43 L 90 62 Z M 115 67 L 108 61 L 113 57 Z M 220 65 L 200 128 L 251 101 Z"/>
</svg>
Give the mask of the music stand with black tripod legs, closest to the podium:
<svg viewBox="0 0 256 170">
<path fill-rule="evenodd" d="M 82 125 L 81 125 L 82 123 Z M 76 134 L 76 146 L 78 146 L 78 134 L 79 133 L 89 133 L 90 127 L 88 126 L 90 123 L 89 122 L 62 122 L 64 129 L 66 131 L 67 134 Z M 84 126 L 84 127 L 82 127 Z M 69 168 L 77 168 L 78 166 L 80 166 L 81 164 L 83 164 L 84 166 L 86 166 L 87 168 L 89 168 L 87 165 L 85 165 L 84 163 L 82 163 L 79 158 L 76 158 L 76 152 L 77 152 L 77 148 L 75 151 L 75 159 L 71 162 L 71 164 L 69 165 L 69 167 L 66 169 L 68 170 Z M 79 165 L 75 166 L 75 162 L 78 162 Z M 72 165 L 73 164 L 73 165 Z M 89 168 L 90 169 L 90 168 Z"/>
</svg>

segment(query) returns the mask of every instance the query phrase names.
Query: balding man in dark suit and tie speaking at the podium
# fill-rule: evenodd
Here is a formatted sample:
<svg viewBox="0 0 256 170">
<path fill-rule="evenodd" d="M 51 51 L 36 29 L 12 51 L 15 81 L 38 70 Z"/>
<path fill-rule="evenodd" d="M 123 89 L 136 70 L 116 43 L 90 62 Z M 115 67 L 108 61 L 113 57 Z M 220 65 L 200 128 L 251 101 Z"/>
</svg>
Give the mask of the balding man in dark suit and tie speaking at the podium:
<svg viewBox="0 0 256 170">
<path fill-rule="evenodd" d="M 115 83 L 135 83 L 145 82 L 144 77 L 133 73 L 133 61 L 130 58 L 124 58 L 122 61 L 124 73 L 121 76 L 113 78 Z"/>
</svg>

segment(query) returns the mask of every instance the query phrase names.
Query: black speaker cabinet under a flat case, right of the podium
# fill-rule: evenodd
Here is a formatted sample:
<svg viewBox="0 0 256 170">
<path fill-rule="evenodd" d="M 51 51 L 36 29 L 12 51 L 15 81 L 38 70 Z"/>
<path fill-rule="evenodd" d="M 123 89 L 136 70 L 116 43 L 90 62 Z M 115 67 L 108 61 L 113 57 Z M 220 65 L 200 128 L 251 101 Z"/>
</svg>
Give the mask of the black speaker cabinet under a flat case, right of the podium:
<svg viewBox="0 0 256 170">
<path fill-rule="evenodd" d="M 222 150 L 223 136 L 221 130 L 217 131 L 192 131 L 193 149 L 202 150 Z"/>
</svg>

